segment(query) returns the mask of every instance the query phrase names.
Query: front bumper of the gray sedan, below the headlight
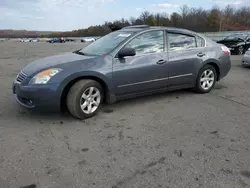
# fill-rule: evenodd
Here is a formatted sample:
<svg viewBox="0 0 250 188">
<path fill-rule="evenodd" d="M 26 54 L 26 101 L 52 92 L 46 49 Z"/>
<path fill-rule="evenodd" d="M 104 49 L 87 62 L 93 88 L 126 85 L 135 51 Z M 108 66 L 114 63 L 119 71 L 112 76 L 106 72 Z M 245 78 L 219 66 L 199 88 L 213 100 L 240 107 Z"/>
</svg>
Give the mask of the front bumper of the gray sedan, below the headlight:
<svg viewBox="0 0 250 188">
<path fill-rule="evenodd" d="M 60 111 L 58 84 L 23 86 L 13 83 L 12 91 L 16 101 L 23 107 L 39 111 Z"/>
</svg>

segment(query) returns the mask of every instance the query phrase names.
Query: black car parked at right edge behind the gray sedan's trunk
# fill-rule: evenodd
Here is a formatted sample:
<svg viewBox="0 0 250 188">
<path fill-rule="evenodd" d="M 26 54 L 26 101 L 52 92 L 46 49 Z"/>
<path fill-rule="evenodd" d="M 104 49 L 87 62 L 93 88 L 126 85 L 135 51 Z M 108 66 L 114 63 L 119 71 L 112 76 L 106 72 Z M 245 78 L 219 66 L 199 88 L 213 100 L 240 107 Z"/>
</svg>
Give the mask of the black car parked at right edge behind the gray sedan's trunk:
<svg viewBox="0 0 250 188">
<path fill-rule="evenodd" d="M 231 53 L 243 55 L 250 47 L 250 34 L 233 34 L 217 43 L 227 46 Z"/>
</svg>

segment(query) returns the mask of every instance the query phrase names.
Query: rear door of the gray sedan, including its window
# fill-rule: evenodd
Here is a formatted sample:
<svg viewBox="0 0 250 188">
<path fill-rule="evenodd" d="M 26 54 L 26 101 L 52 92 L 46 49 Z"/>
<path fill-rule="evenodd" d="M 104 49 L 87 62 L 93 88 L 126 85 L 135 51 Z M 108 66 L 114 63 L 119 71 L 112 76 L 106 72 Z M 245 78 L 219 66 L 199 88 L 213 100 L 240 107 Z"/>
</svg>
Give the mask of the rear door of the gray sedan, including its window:
<svg viewBox="0 0 250 188">
<path fill-rule="evenodd" d="M 167 41 L 169 87 L 194 84 L 197 70 L 206 56 L 204 39 L 190 34 L 168 32 Z"/>
</svg>

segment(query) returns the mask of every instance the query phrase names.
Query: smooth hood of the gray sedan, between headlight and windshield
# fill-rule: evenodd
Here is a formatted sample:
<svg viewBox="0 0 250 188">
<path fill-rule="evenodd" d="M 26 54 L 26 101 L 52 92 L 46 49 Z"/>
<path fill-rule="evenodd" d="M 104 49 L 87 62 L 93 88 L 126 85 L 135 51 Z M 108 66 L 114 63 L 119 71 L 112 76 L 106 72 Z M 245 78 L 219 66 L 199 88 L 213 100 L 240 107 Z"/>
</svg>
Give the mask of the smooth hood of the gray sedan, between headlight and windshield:
<svg viewBox="0 0 250 188">
<path fill-rule="evenodd" d="M 63 53 L 59 55 L 49 56 L 38 59 L 26 65 L 22 72 L 28 76 L 38 73 L 48 68 L 63 68 L 65 64 L 79 62 L 87 59 L 96 58 L 95 56 L 84 56 L 73 52 Z"/>
</svg>

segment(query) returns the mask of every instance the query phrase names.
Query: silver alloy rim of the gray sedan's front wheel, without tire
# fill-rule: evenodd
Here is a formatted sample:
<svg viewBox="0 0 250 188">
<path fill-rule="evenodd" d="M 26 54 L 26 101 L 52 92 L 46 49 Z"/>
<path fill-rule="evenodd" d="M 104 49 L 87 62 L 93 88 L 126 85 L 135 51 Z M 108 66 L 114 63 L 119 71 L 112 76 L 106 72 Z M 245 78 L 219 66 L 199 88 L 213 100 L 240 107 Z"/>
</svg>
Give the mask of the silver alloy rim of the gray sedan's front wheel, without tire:
<svg viewBox="0 0 250 188">
<path fill-rule="evenodd" d="M 85 114 L 91 114 L 97 110 L 101 102 L 101 93 L 96 87 L 87 88 L 80 99 L 80 106 Z"/>
</svg>

